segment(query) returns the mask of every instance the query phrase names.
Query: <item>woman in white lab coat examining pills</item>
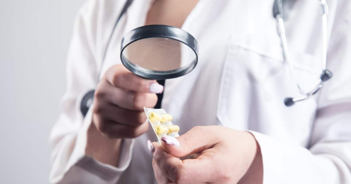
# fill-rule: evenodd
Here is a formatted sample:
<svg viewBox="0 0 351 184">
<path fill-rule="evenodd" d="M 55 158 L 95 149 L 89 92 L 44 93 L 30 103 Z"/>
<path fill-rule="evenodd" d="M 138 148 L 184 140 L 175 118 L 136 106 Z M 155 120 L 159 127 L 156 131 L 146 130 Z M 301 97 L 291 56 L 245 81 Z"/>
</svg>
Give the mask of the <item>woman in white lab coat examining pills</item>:
<svg viewBox="0 0 351 184">
<path fill-rule="evenodd" d="M 284 62 L 273 0 L 89 0 L 68 52 L 67 90 L 52 129 L 52 183 L 351 183 L 351 1 L 329 3 L 327 68 L 333 78 L 299 96 Z M 293 67 L 303 89 L 320 75 L 320 3 L 294 1 L 286 19 Z M 188 75 L 141 79 L 121 64 L 124 33 L 146 24 L 181 27 L 199 42 Z M 99 84 L 96 84 L 99 70 Z M 85 118 L 79 96 L 96 88 Z M 180 126 L 162 146 L 142 107 L 161 107 Z M 195 128 L 193 128 L 195 127 Z M 151 154 L 150 154 L 151 153 Z M 169 153 L 169 154 L 168 154 Z M 192 160 L 176 157 L 195 154 Z"/>
</svg>

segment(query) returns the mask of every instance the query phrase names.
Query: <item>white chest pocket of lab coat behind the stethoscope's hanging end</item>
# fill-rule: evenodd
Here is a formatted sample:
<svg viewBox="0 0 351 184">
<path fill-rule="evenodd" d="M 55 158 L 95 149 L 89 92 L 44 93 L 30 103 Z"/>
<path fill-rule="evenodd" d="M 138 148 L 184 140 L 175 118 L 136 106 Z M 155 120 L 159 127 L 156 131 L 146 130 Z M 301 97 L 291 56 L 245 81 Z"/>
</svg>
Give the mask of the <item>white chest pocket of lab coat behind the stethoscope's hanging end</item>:
<svg viewBox="0 0 351 184">
<path fill-rule="evenodd" d="M 296 52 L 291 52 L 291 57 L 300 86 L 307 90 L 316 85 L 318 58 Z M 310 128 L 316 100 L 311 98 L 287 108 L 287 96 L 300 93 L 284 61 L 279 37 L 232 39 L 221 76 L 217 107 L 220 124 L 263 133 L 271 133 L 270 126 L 281 126 L 287 134 L 302 134 Z"/>
</svg>

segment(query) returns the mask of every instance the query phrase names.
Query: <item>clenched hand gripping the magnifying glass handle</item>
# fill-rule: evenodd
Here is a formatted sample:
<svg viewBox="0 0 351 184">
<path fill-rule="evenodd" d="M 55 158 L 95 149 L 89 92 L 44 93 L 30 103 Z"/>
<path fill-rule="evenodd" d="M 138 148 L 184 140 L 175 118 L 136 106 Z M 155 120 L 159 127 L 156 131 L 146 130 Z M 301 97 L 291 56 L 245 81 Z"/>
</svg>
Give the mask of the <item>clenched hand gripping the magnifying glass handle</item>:
<svg viewBox="0 0 351 184">
<path fill-rule="evenodd" d="M 93 123 L 108 138 L 135 138 L 148 130 L 144 107 L 157 102 L 163 86 L 140 78 L 123 65 L 113 65 L 100 80 L 94 96 Z"/>
</svg>

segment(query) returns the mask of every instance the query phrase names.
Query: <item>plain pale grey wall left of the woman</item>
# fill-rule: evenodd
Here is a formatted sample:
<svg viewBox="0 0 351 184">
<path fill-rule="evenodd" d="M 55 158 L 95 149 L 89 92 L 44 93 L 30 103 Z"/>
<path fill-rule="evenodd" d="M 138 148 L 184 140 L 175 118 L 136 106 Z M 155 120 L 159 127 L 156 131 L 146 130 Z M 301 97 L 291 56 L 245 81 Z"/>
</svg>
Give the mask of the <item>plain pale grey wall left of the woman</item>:
<svg viewBox="0 0 351 184">
<path fill-rule="evenodd" d="M 0 0 L 0 183 L 48 183 L 48 136 L 85 0 Z"/>
</svg>

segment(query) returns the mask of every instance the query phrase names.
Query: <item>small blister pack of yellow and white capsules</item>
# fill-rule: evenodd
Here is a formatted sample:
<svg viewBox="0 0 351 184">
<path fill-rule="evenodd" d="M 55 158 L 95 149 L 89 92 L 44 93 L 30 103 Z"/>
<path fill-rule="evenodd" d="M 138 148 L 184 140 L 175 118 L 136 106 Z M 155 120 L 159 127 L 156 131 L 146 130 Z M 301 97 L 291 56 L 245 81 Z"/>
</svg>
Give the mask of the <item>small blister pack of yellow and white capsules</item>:
<svg viewBox="0 0 351 184">
<path fill-rule="evenodd" d="M 179 126 L 173 125 L 173 117 L 171 114 L 166 113 L 164 109 L 151 109 L 144 107 L 144 111 L 159 142 L 161 141 L 161 138 L 166 135 L 172 137 L 179 136 Z"/>
</svg>

